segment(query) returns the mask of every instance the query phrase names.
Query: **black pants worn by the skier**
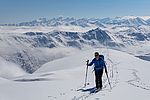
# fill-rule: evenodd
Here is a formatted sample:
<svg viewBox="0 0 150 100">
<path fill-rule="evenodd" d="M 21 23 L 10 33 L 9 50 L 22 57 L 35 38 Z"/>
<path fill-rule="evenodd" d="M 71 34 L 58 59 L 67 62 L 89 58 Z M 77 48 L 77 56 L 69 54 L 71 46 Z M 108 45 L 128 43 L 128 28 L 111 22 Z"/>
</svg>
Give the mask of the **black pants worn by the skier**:
<svg viewBox="0 0 150 100">
<path fill-rule="evenodd" d="M 95 69 L 95 83 L 96 88 L 102 88 L 102 75 L 103 75 L 103 69 Z"/>
</svg>

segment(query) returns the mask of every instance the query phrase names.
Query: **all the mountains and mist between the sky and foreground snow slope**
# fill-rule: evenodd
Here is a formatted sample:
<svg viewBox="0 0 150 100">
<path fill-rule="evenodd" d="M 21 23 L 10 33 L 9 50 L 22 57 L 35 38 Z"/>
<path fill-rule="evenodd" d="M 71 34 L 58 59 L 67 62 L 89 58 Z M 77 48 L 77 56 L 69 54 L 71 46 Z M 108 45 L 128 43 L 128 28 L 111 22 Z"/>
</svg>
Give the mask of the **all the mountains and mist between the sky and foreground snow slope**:
<svg viewBox="0 0 150 100">
<path fill-rule="evenodd" d="M 89 48 L 107 47 L 143 56 L 150 53 L 148 18 L 59 17 L 1 25 L 0 56 L 28 73 L 33 73 L 46 62 Z"/>
</svg>

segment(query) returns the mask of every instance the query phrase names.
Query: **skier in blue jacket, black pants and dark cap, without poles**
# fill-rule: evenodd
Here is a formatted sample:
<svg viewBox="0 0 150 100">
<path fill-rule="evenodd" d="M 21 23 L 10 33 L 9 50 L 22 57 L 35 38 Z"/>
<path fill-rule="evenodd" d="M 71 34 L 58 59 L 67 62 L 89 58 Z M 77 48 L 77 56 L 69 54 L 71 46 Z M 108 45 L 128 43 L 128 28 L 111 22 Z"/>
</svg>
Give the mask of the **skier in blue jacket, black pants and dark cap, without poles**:
<svg viewBox="0 0 150 100">
<path fill-rule="evenodd" d="M 101 90 L 103 69 L 106 68 L 106 65 L 105 65 L 103 55 L 99 55 L 98 52 L 95 52 L 94 55 L 95 55 L 95 58 L 88 64 L 88 66 L 92 66 L 94 64 L 96 88 L 98 90 Z"/>
</svg>

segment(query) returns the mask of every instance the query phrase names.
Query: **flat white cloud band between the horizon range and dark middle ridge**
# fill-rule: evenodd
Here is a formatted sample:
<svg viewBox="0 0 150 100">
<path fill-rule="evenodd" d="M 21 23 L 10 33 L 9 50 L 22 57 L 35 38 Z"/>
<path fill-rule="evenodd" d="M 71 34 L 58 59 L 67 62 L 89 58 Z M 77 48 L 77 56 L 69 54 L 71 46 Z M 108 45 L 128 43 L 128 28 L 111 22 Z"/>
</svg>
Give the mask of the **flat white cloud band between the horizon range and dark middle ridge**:
<svg viewBox="0 0 150 100">
<path fill-rule="evenodd" d="M 94 29 L 96 26 L 81 27 L 81 26 L 1 26 L 0 33 L 26 33 L 26 32 L 53 32 L 53 31 L 66 31 L 66 32 L 86 32 L 88 30 Z"/>
</svg>

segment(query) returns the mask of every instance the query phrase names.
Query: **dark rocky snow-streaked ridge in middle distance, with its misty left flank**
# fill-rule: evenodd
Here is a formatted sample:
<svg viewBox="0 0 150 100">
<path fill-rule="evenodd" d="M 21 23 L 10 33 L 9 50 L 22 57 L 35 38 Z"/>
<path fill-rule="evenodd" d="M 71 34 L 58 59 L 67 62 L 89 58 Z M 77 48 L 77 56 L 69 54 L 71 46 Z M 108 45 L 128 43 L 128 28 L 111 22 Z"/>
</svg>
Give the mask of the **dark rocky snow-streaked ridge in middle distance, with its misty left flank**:
<svg viewBox="0 0 150 100">
<path fill-rule="evenodd" d="M 66 56 L 66 52 L 73 50 L 71 48 L 100 47 L 106 43 L 108 46 L 120 45 L 99 28 L 85 33 L 56 31 L 1 34 L 0 39 L 0 55 L 6 60 L 19 64 L 29 73 L 33 73 L 50 60 Z M 69 49 L 65 49 L 66 47 Z M 62 51 L 64 52 L 61 53 Z"/>
</svg>

